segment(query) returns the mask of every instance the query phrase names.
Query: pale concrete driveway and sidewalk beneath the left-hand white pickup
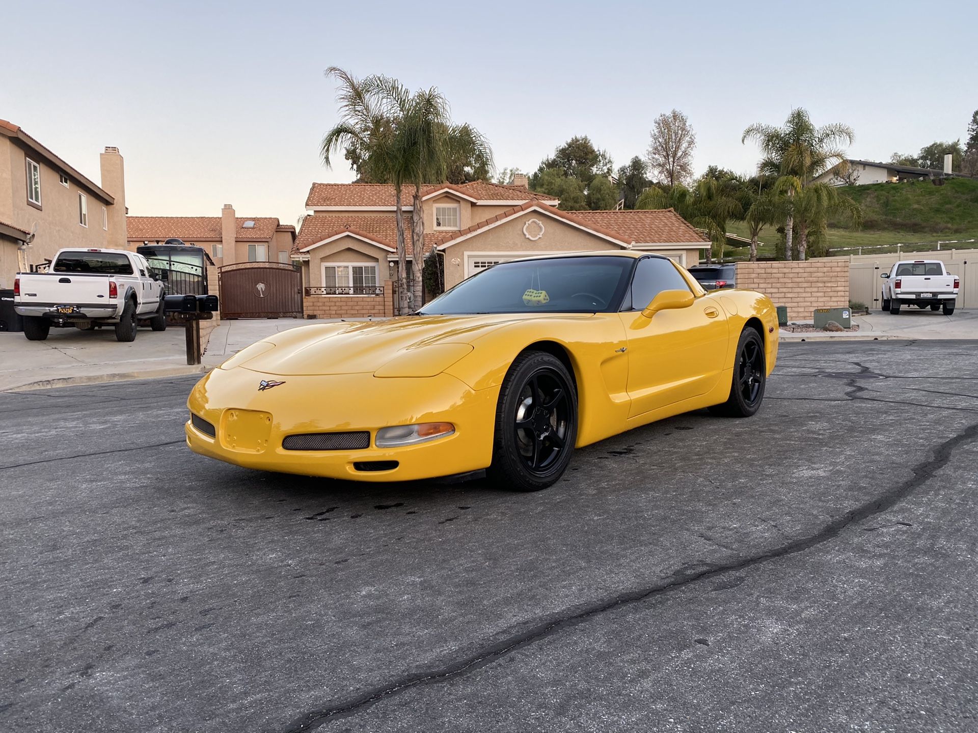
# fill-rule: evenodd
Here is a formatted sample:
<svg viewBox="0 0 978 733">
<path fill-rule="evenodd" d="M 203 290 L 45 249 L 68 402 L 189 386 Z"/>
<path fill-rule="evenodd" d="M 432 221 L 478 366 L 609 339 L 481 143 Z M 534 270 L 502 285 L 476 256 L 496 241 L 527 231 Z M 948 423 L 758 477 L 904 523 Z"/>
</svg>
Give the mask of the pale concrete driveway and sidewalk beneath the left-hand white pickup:
<svg viewBox="0 0 978 733">
<path fill-rule="evenodd" d="M 130 343 L 116 341 L 112 328 L 52 328 L 45 341 L 28 341 L 22 333 L 4 331 L 0 332 L 0 392 L 202 374 L 248 344 L 310 323 L 315 322 L 222 321 L 211 331 L 199 366 L 187 364 L 184 329 L 180 326 L 171 325 L 162 332 L 140 328 Z"/>
</svg>

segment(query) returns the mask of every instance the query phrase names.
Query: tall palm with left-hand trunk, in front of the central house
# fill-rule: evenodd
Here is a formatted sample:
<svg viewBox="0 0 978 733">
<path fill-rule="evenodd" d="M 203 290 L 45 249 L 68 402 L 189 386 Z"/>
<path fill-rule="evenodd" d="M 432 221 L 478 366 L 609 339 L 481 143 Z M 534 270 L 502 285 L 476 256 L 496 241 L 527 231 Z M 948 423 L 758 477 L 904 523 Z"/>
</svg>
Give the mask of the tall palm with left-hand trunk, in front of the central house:
<svg viewBox="0 0 978 733">
<path fill-rule="evenodd" d="M 368 178 L 393 184 L 397 228 L 398 312 L 406 313 L 407 249 L 402 191 L 409 168 L 397 140 L 397 118 L 389 113 L 390 95 L 395 91 L 394 87 L 386 77 L 372 75 L 361 81 L 338 66 L 330 66 L 326 69 L 326 75 L 333 76 L 339 82 L 339 91 L 336 93 L 339 122 L 323 138 L 320 147 L 323 163 L 332 167 L 333 153 L 352 150 L 362 160 L 362 173 Z"/>
</svg>

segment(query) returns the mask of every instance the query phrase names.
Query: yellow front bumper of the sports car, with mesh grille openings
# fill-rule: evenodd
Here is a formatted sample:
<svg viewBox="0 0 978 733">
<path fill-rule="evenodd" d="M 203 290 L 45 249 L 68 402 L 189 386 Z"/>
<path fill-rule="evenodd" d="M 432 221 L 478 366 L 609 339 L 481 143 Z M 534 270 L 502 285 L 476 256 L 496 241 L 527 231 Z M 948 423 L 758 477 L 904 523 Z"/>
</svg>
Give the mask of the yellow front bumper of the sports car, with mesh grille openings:
<svg viewBox="0 0 978 733">
<path fill-rule="evenodd" d="M 282 384 L 259 390 L 261 380 Z M 353 481 L 413 481 L 489 465 L 498 395 L 498 388 L 475 391 L 448 374 L 381 379 L 370 373 L 282 376 L 244 367 L 214 369 L 187 401 L 192 413 L 213 426 L 214 436 L 191 420 L 184 431 L 194 453 L 245 468 Z M 240 428 L 243 415 L 252 423 L 245 430 Z M 419 422 L 451 422 L 455 433 L 416 446 L 376 447 L 379 428 Z M 289 435 L 353 431 L 369 431 L 370 447 L 287 451 L 282 445 Z M 362 470 L 355 465 L 375 461 L 396 461 L 397 466 Z"/>
</svg>

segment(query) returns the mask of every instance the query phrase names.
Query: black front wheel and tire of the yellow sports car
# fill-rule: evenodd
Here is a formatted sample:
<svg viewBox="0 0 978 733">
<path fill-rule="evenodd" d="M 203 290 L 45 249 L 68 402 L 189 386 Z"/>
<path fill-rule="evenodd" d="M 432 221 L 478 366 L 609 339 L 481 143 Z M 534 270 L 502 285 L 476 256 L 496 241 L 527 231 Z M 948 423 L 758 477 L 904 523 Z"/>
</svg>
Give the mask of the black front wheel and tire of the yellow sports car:
<svg viewBox="0 0 978 733">
<path fill-rule="evenodd" d="M 577 390 L 567 367 L 546 352 L 523 352 L 499 393 L 489 478 L 517 492 L 553 486 L 576 440 Z"/>
</svg>

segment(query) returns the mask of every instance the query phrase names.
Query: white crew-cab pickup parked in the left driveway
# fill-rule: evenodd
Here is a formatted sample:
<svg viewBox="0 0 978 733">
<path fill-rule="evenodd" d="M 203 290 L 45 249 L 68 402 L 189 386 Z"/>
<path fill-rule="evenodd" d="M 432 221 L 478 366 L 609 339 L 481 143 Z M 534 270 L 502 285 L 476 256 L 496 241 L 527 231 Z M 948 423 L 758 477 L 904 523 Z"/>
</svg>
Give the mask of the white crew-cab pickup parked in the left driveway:
<svg viewBox="0 0 978 733">
<path fill-rule="evenodd" d="M 14 310 L 23 335 L 43 341 L 52 325 L 92 330 L 113 324 L 115 338 L 133 341 L 140 321 L 166 329 L 163 283 L 146 258 L 124 249 L 60 249 L 46 273 L 18 273 Z"/>
</svg>

